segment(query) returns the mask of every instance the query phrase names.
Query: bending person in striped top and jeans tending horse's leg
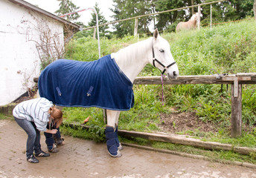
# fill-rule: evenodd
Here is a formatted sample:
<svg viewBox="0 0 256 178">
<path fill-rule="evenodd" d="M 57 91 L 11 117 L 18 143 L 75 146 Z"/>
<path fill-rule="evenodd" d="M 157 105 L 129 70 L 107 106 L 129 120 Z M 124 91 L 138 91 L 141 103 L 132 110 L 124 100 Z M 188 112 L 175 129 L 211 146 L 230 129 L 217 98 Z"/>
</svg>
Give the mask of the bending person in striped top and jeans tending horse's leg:
<svg viewBox="0 0 256 178">
<path fill-rule="evenodd" d="M 35 156 L 50 156 L 41 150 L 40 131 L 57 133 L 57 129 L 48 129 L 47 125 L 63 121 L 63 112 L 45 98 L 30 99 L 21 102 L 13 109 L 13 117 L 17 124 L 28 134 L 26 156 L 28 162 L 39 162 Z"/>
</svg>

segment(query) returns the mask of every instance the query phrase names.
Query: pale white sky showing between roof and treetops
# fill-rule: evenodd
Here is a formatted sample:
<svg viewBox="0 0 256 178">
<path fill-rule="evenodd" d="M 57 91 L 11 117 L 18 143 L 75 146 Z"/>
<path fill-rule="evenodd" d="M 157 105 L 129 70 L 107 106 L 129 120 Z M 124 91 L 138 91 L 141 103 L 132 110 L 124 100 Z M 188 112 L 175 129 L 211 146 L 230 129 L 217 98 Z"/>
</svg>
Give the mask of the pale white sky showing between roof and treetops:
<svg viewBox="0 0 256 178">
<path fill-rule="evenodd" d="M 57 0 L 25 0 L 29 3 L 36 5 L 37 7 L 48 11 L 49 13 L 54 13 L 59 9 L 60 1 Z M 110 17 L 113 15 L 112 11 L 109 8 L 113 8 L 112 0 L 71 0 L 77 7 L 80 7 L 79 10 L 87 9 L 89 7 L 94 7 L 97 2 L 98 7 L 100 8 L 100 13 L 106 18 L 108 22 L 113 21 Z M 80 19 L 78 22 L 83 22 L 83 24 L 88 24 L 88 22 L 92 19 L 92 10 L 85 10 L 80 13 Z"/>
</svg>

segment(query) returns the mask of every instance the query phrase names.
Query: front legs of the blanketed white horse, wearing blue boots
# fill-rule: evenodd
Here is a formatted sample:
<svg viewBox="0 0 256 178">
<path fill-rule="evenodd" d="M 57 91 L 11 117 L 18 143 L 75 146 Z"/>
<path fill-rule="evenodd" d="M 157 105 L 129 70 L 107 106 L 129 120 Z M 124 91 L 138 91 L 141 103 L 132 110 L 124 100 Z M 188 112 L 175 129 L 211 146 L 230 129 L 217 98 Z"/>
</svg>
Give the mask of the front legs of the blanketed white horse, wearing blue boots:
<svg viewBox="0 0 256 178">
<path fill-rule="evenodd" d="M 111 156 L 119 157 L 122 156 L 119 150 L 122 146 L 118 139 L 118 118 L 120 111 L 106 110 L 106 146 Z"/>
</svg>

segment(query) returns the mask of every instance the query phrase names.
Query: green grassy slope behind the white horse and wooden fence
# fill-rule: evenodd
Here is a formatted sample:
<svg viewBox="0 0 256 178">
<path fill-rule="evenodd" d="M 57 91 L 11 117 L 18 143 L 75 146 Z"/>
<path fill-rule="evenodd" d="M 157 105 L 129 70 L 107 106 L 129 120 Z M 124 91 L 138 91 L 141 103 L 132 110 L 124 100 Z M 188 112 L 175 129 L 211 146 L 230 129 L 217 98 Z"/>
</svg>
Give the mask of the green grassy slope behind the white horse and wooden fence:
<svg viewBox="0 0 256 178">
<path fill-rule="evenodd" d="M 242 22 L 221 24 L 201 30 L 181 33 L 161 33 L 170 42 L 171 52 L 176 60 L 180 75 L 211 75 L 210 70 L 218 73 L 255 73 L 256 72 L 256 22 L 247 19 Z M 146 39 L 143 36 L 140 40 Z M 101 56 L 116 52 L 129 44 L 137 42 L 133 36 L 123 39 L 100 39 Z M 97 40 L 91 37 L 74 39 L 66 47 L 67 59 L 92 61 L 98 58 Z M 144 67 L 139 76 L 159 76 L 158 69 L 151 65 Z M 179 119 L 191 119 L 183 113 L 193 113 L 195 121 L 201 125 L 214 125 L 214 132 L 184 128 L 182 134 L 189 134 L 204 140 L 224 142 L 232 145 L 256 146 L 256 94 L 255 85 L 243 85 L 243 136 L 230 138 L 231 127 L 231 88 L 221 85 L 164 85 L 164 105 L 161 103 L 161 85 L 134 85 L 135 106 L 130 111 L 121 112 L 119 129 L 132 131 L 163 131 L 159 126 L 164 122 L 161 117 L 180 114 Z M 63 133 L 96 141 L 104 141 L 103 111 L 98 108 L 65 108 L 65 123 L 86 125 L 89 131 L 62 128 Z M 176 123 L 170 127 L 177 127 Z M 124 142 L 133 142 L 121 138 Z M 162 145 L 135 139 L 142 145 L 185 151 L 192 154 L 212 156 L 214 159 L 229 159 L 256 163 L 255 155 L 241 156 L 231 152 L 213 151 L 206 153 L 188 146 Z"/>
</svg>

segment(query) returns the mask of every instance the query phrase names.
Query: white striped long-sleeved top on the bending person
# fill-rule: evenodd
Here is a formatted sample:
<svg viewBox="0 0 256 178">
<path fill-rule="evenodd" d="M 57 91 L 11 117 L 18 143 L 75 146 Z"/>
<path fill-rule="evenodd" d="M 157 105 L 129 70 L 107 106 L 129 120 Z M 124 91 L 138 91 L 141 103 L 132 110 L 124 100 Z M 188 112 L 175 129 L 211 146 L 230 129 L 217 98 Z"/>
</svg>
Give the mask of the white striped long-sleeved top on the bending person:
<svg viewBox="0 0 256 178">
<path fill-rule="evenodd" d="M 34 122 L 38 131 L 46 131 L 49 121 L 49 109 L 54 106 L 45 98 L 31 99 L 21 102 L 13 109 L 13 116 L 17 119 L 27 119 Z"/>
</svg>

